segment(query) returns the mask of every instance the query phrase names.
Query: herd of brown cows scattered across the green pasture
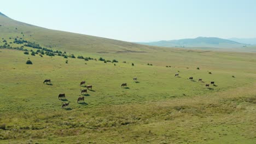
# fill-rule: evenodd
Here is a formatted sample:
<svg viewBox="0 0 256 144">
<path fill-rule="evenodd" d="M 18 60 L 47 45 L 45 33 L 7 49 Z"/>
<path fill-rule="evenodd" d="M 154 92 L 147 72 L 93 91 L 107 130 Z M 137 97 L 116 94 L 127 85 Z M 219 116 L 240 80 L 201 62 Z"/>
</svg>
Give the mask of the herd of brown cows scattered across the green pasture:
<svg viewBox="0 0 256 144">
<path fill-rule="evenodd" d="M 179 74 L 176 73 L 176 74 L 174 75 L 174 77 L 176 77 L 176 76 L 179 76 Z M 189 77 L 188 79 L 189 79 L 189 80 L 193 80 L 193 77 Z M 134 78 L 133 78 L 133 81 L 137 82 L 137 77 L 134 77 Z M 200 78 L 198 81 L 202 81 L 202 79 Z M 43 83 L 51 84 L 51 80 L 49 80 L 49 79 L 44 80 Z M 214 85 L 214 81 L 211 81 L 211 84 Z M 81 90 L 81 94 L 82 94 L 82 95 L 83 95 L 84 93 L 88 94 L 88 93 L 87 93 L 87 92 L 88 92 L 87 90 L 88 90 L 88 89 L 92 90 L 92 85 L 85 85 L 85 81 L 80 82 L 80 86 L 83 86 L 83 85 L 84 85 L 84 87 L 86 87 L 86 89 L 82 89 L 82 90 Z M 205 86 L 209 88 L 209 87 L 210 87 L 210 84 L 206 84 Z M 127 87 L 127 83 L 122 83 L 122 84 L 121 84 L 121 87 Z M 58 99 L 66 99 L 65 93 L 60 93 Z M 77 103 L 79 103 L 80 101 L 83 101 L 83 103 L 84 103 L 84 97 L 79 97 L 79 98 L 77 99 Z M 62 107 L 62 108 L 65 108 L 65 107 L 67 107 L 68 105 L 69 105 L 69 103 L 65 103 L 65 104 L 62 104 L 61 107 Z"/>
</svg>

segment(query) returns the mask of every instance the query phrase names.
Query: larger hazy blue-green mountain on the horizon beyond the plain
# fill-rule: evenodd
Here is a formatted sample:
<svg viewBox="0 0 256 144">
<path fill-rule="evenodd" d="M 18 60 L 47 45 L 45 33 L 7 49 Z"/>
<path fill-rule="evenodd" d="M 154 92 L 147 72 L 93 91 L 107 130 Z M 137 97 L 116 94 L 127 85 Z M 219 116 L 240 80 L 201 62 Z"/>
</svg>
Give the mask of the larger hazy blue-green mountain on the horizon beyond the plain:
<svg viewBox="0 0 256 144">
<path fill-rule="evenodd" d="M 195 39 L 161 40 L 150 43 L 139 43 L 144 45 L 165 46 L 165 47 L 218 47 L 235 48 L 243 47 L 245 44 L 228 39 L 214 37 L 197 37 Z"/>
</svg>

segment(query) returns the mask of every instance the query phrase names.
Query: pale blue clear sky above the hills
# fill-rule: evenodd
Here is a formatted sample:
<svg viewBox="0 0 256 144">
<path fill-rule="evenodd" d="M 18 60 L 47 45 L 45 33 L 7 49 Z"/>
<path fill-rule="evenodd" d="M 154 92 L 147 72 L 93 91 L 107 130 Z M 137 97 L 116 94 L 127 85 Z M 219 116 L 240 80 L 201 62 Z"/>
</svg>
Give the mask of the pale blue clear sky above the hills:
<svg viewBox="0 0 256 144">
<path fill-rule="evenodd" d="M 1 1 L 11 19 L 132 42 L 196 37 L 255 38 L 256 1 Z"/>
</svg>

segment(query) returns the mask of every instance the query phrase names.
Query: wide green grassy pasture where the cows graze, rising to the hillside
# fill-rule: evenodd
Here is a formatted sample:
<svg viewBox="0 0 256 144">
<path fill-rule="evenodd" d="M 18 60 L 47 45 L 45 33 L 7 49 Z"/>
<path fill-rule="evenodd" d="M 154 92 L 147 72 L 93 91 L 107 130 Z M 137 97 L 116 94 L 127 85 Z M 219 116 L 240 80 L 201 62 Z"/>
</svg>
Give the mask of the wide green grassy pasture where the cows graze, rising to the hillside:
<svg viewBox="0 0 256 144">
<path fill-rule="evenodd" d="M 18 36 L 75 56 L 119 62 L 0 49 L 0 143 L 256 143 L 256 53 L 143 46 L 0 16 L 1 24 L 0 37 L 8 44 Z M 80 94 L 83 80 L 93 86 L 88 95 Z M 215 86 L 205 87 L 211 81 Z M 67 101 L 58 99 L 60 93 Z M 79 97 L 85 103 L 78 104 Z"/>
</svg>

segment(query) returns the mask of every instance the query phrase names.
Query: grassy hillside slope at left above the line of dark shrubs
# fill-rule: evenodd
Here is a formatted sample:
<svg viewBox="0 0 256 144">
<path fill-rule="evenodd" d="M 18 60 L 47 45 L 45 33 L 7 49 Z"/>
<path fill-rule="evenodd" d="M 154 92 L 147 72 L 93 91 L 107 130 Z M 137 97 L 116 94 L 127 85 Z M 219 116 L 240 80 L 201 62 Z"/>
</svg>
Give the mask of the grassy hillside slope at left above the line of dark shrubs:
<svg viewBox="0 0 256 144">
<path fill-rule="evenodd" d="M 0 37 L 4 39 L 21 37 L 57 50 L 71 52 L 117 52 L 145 51 L 151 46 L 139 45 L 120 40 L 94 37 L 91 35 L 55 31 L 15 21 L 0 13 Z"/>
</svg>

